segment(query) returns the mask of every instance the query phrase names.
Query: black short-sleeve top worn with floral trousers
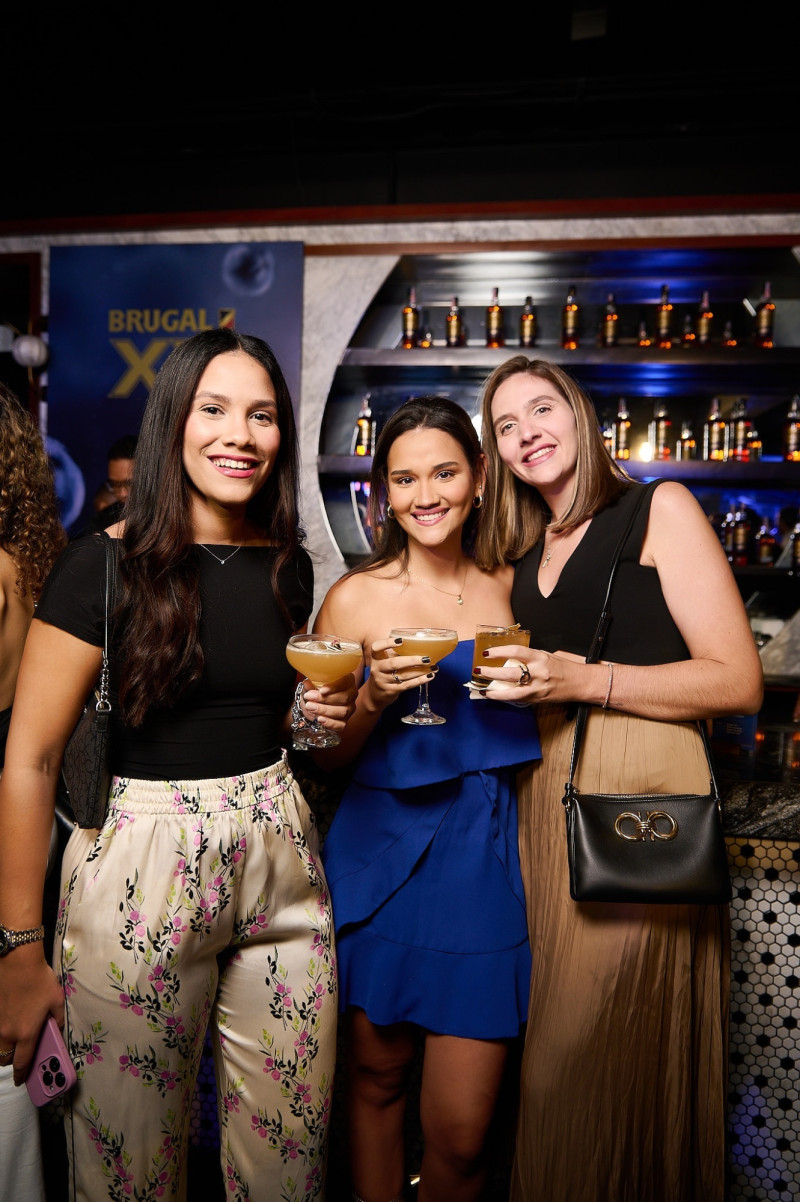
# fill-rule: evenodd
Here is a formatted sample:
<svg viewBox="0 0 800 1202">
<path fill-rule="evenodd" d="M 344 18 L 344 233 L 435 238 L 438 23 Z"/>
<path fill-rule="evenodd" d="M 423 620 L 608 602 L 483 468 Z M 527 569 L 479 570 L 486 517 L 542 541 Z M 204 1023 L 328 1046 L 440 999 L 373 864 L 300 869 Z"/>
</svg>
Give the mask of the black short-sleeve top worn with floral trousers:
<svg viewBox="0 0 800 1202">
<path fill-rule="evenodd" d="M 106 558 L 102 535 L 71 542 L 54 564 L 36 619 L 94 647 L 103 642 Z M 282 724 L 292 703 L 294 668 L 286 659 L 293 627 L 274 595 L 275 547 L 229 547 L 220 564 L 197 547 L 202 679 L 172 709 L 151 708 L 139 727 L 119 718 L 119 664 L 109 647 L 112 770 L 144 780 L 204 780 L 255 772 L 280 760 Z M 281 569 L 281 595 L 295 627 L 309 618 L 314 569 L 308 552 Z"/>
</svg>

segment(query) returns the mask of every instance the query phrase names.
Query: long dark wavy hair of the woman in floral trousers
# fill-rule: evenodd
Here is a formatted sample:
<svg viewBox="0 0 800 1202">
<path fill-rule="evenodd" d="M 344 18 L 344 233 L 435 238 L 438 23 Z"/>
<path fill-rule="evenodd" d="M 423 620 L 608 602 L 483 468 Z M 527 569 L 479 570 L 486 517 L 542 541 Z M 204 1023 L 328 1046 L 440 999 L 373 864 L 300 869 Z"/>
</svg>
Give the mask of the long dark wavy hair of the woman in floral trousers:
<svg viewBox="0 0 800 1202">
<path fill-rule="evenodd" d="M 184 427 L 203 371 L 219 355 L 243 351 L 275 389 L 280 448 L 247 517 L 277 547 L 273 588 L 303 538 L 299 457 L 292 398 L 271 347 L 233 329 L 205 329 L 180 343 L 155 377 L 136 446 L 120 560 L 120 709 L 138 726 L 150 706 L 169 707 L 203 671 L 199 644 L 199 569 L 193 554 L 192 506 L 183 465 Z M 286 612 L 288 618 L 288 613 Z"/>
</svg>

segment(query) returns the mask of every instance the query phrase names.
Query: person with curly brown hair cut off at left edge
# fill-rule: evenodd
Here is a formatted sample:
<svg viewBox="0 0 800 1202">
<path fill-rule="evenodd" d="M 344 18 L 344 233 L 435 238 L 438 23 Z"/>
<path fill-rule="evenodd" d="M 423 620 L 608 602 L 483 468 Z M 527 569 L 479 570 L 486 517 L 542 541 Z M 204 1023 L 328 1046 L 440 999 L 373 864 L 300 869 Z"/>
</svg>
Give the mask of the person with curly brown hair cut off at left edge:
<svg viewBox="0 0 800 1202">
<path fill-rule="evenodd" d="M 38 429 L 0 383 L 0 773 L 25 636 L 65 543 Z M 14 1088 L 12 1059 L 0 1040 L 0 1198 L 44 1202 L 38 1113 L 28 1090 Z"/>
</svg>

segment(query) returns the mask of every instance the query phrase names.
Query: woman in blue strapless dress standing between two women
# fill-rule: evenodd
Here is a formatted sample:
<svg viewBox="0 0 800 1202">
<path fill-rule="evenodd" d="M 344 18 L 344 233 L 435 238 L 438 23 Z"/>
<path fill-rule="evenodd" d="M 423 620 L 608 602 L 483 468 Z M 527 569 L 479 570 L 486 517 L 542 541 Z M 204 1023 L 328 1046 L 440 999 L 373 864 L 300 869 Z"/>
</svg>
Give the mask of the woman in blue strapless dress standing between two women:
<svg viewBox="0 0 800 1202">
<path fill-rule="evenodd" d="M 512 1041 L 526 1019 L 530 950 L 514 769 L 539 756 L 536 719 L 464 688 L 478 623 L 513 621 L 511 569 L 471 552 L 484 459 L 465 410 L 406 401 L 376 447 L 374 553 L 329 590 L 315 626 L 357 638 L 365 673 L 326 767 L 354 761 L 323 849 L 346 1014 L 353 1198 L 396 1202 L 410 1073 L 424 1042 L 419 1202 L 472 1202 Z M 448 627 L 438 666 L 389 631 Z M 401 719 L 432 680 L 444 725 Z"/>
</svg>

